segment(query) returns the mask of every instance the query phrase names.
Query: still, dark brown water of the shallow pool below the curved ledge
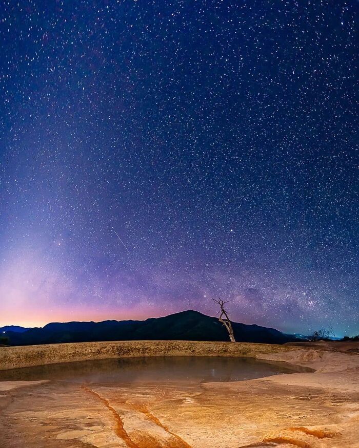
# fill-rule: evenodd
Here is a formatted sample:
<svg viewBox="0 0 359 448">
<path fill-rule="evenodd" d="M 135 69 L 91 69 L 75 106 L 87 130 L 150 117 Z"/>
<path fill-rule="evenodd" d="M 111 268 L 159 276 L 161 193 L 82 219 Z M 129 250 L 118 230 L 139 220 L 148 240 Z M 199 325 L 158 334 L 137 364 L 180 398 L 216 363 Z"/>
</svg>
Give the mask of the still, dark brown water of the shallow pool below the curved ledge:
<svg viewBox="0 0 359 448">
<path fill-rule="evenodd" d="M 241 381 L 303 371 L 253 358 L 158 356 L 100 359 L 0 371 L 0 381 L 41 379 L 81 383 Z"/>
</svg>

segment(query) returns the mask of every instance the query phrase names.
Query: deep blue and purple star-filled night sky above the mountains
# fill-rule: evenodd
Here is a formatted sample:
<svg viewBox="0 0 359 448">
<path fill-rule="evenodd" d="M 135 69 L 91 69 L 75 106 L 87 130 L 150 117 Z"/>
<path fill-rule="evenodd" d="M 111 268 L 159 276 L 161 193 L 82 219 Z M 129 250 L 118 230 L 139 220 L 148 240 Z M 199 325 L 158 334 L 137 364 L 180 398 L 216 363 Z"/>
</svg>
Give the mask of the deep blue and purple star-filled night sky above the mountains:
<svg viewBox="0 0 359 448">
<path fill-rule="evenodd" d="M 2 2 L 0 325 L 359 333 L 358 11 Z"/>
</svg>

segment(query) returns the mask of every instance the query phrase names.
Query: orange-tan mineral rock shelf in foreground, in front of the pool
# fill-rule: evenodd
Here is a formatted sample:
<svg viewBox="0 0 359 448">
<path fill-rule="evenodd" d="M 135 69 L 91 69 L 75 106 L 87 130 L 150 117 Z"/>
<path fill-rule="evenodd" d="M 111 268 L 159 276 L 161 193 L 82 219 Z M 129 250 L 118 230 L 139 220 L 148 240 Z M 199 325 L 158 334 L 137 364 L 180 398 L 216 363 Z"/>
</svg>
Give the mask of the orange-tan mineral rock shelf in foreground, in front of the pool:
<svg viewBox="0 0 359 448">
<path fill-rule="evenodd" d="M 249 381 L 3 381 L 0 446 L 359 447 L 357 349 L 338 343 L 257 354 L 315 372 Z"/>
</svg>

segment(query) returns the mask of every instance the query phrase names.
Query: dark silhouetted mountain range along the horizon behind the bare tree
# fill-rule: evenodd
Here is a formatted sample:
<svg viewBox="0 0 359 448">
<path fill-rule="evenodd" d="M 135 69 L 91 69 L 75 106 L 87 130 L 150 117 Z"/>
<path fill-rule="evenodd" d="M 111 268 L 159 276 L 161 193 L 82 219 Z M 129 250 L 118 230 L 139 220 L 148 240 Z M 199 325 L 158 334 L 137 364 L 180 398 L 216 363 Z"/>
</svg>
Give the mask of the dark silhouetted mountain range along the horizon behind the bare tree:
<svg viewBox="0 0 359 448">
<path fill-rule="evenodd" d="M 284 344 L 300 340 L 274 328 L 236 322 L 232 326 L 237 342 Z M 191 310 L 146 321 L 51 323 L 43 328 L 9 326 L 0 331 L 5 331 L 6 344 L 12 346 L 106 340 L 229 340 L 226 329 L 216 317 Z"/>
</svg>

